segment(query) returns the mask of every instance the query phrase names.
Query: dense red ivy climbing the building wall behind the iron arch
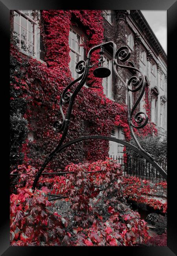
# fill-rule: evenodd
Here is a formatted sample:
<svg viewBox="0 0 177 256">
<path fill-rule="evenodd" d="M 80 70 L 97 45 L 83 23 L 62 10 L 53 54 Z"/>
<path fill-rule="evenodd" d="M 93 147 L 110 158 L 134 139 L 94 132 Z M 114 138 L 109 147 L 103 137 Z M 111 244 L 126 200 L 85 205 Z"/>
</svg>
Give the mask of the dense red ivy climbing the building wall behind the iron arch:
<svg viewBox="0 0 177 256">
<path fill-rule="evenodd" d="M 28 120 L 30 132 L 35 136 L 34 141 L 27 140 L 23 146 L 26 162 L 36 158 L 35 162 L 41 163 L 39 156 L 42 158 L 49 154 L 61 136 L 61 134 L 55 134 L 52 125 L 57 118 L 60 118 L 60 95 L 66 85 L 73 80 L 69 70 L 70 25 L 78 26 L 83 30 L 83 34 L 87 37 L 83 43 L 87 54 L 91 47 L 103 42 L 103 17 L 99 13 L 99 10 L 43 10 L 41 13 L 41 20 L 44 22 L 47 65 L 29 58 L 26 76 L 20 79 L 16 76 L 15 82 L 11 84 L 16 90 L 22 90 L 24 97 L 28 100 L 28 110 L 24 117 Z M 23 58 L 27 58 L 13 46 L 11 46 L 11 54 L 15 56 L 19 65 Z M 92 54 L 91 61 L 93 63 L 98 61 L 98 52 Z M 106 98 L 103 94 L 101 79 L 94 77 L 92 71 L 93 68 L 90 69 L 88 76 L 88 85 L 91 88 L 83 87 L 77 95 L 66 141 L 87 134 L 110 136 L 114 125 L 122 127 L 125 139 L 129 140 L 131 136 L 127 124 L 127 106 Z M 64 111 L 66 113 L 66 109 Z M 151 123 L 142 129 L 143 135 L 153 134 L 153 132 L 155 132 L 155 126 Z M 139 131 L 137 133 L 139 134 Z M 78 163 L 83 160 L 104 159 L 108 151 L 108 141 L 81 142 L 79 147 L 72 145 L 65 151 L 67 159 L 64 160 L 59 156 L 55 163 L 65 166 L 71 161 Z"/>
</svg>

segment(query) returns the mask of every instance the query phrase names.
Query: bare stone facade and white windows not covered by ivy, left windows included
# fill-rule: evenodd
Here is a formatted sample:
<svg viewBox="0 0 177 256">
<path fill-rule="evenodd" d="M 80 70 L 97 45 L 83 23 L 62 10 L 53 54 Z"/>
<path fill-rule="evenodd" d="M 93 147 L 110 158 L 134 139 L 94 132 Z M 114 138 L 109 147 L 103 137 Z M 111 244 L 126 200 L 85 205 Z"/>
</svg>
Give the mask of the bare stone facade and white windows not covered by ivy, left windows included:
<svg viewBox="0 0 177 256">
<path fill-rule="evenodd" d="M 40 33 L 40 11 L 37 15 L 30 16 L 28 10 L 14 10 L 11 24 L 16 36 L 20 51 L 47 65 L 44 61 L 45 51 Z M 24 16 L 23 16 L 23 15 Z M 28 14 L 28 15 L 27 15 Z M 37 16 L 37 17 L 36 17 Z M 131 50 L 130 60 L 135 63 L 146 77 L 146 88 L 149 93 L 150 113 L 149 118 L 156 125 L 161 139 L 165 139 L 167 133 L 167 56 L 155 34 L 149 27 L 146 19 L 139 10 L 100 10 L 103 16 L 104 39 L 103 41 L 114 41 L 117 47 L 128 45 Z M 81 26 L 70 26 L 68 37 L 70 47 L 69 68 L 72 77 L 76 79 L 78 74 L 75 66 L 78 61 L 85 59 L 85 49 L 82 46 L 85 35 Z M 28 49 L 28 52 L 26 51 Z M 105 63 L 112 70 L 112 55 L 109 49 L 105 49 Z M 118 70 L 120 76 L 127 81 L 132 74 L 125 70 Z M 120 104 L 126 104 L 127 98 L 125 88 L 115 75 L 111 72 L 108 78 L 102 81 L 103 91 L 107 98 Z M 85 84 L 87 87 L 87 83 Z M 144 95 L 146 96 L 146 95 Z M 137 98 L 136 93 L 131 94 L 131 106 Z M 139 110 L 147 111 L 144 102 L 141 101 Z M 124 139 L 123 129 L 114 126 L 111 136 Z M 33 134 L 29 139 L 33 141 Z M 123 156 L 123 146 L 110 142 L 109 155 Z"/>
</svg>

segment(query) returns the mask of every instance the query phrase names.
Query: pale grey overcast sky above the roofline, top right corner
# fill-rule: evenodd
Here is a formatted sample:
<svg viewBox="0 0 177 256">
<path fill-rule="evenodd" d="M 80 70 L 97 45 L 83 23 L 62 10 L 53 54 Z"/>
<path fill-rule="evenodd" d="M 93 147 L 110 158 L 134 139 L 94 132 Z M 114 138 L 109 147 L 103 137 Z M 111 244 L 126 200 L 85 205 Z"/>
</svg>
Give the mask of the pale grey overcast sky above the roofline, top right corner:
<svg viewBox="0 0 177 256">
<path fill-rule="evenodd" d="M 167 53 L 167 11 L 141 10 L 141 12 Z"/>
</svg>

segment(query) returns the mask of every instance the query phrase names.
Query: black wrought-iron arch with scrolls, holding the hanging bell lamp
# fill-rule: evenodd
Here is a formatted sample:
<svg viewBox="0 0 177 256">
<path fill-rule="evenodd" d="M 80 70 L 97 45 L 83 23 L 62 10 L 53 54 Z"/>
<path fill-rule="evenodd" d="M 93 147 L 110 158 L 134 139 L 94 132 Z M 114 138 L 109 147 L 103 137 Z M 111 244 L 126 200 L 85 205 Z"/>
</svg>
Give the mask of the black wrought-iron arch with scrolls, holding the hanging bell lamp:
<svg viewBox="0 0 177 256">
<path fill-rule="evenodd" d="M 124 84 L 125 89 L 126 89 L 127 106 L 128 106 L 128 108 L 127 108 L 128 124 L 129 124 L 131 135 L 132 135 L 133 139 L 135 140 L 136 146 L 134 146 L 134 145 L 132 145 L 132 144 L 130 144 L 130 143 L 124 141 L 124 140 L 116 139 L 116 138 L 113 138 L 113 137 L 102 136 L 102 135 L 90 135 L 90 136 L 85 136 L 85 137 L 79 137 L 77 139 L 74 139 L 72 141 L 69 141 L 69 142 L 63 144 L 63 142 L 66 138 L 66 135 L 68 133 L 74 100 L 75 100 L 77 94 L 79 93 L 79 91 L 81 90 L 81 88 L 83 87 L 83 85 L 85 84 L 85 81 L 86 81 L 87 76 L 89 74 L 89 69 L 90 69 L 90 67 L 92 67 L 90 65 L 92 52 L 101 48 L 100 55 L 103 56 L 103 46 L 104 47 L 105 46 L 112 46 L 112 48 L 113 48 L 113 57 L 112 57 L 113 70 L 114 70 L 114 73 L 116 74 L 116 76 Z M 33 189 L 35 189 L 35 187 L 37 185 L 37 182 L 38 182 L 42 172 L 44 171 L 45 167 L 56 156 L 56 154 L 60 153 L 64 148 L 69 147 L 72 144 L 75 144 L 79 141 L 83 141 L 83 140 L 87 140 L 87 139 L 109 140 L 109 141 L 115 141 L 116 143 L 120 143 L 122 145 L 125 145 L 125 146 L 133 149 L 135 152 L 137 152 L 141 156 L 143 156 L 147 161 L 149 161 L 151 163 L 151 165 L 153 167 L 155 167 L 157 169 L 157 171 L 159 171 L 159 173 L 163 176 L 163 178 L 167 179 L 166 171 L 164 171 L 162 169 L 162 167 L 160 167 L 160 165 L 158 165 L 158 163 L 155 162 L 155 160 L 153 159 L 153 156 L 151 156 L 148 152 L 146 152 L 141 147 L 141 145 L 138 142 L 138 139 L 136 138 L 136 135 L 133 131 L 133 128 L 140 129 L 140 128 L 143 128 L 144 126 L 146 126 L 146 124 L 148 122 L 148 117 L 147 117 L 146 113 L 144 113 L 142 111 L 134 114 L 136 107 L 138 106 L 140 100 L 142 99 L 142 96 L 144 95 L 145 86 L 146 86 L 144 75 L 142 74 L 142 72 L 139 69 L 137 69 L 135 67 L 134 63 L 132 63 L 131 61 L 128 61 L 128 65 L 120 65 L 118 63 L 118 61 L 124 63 L 125 61 L 127 61 L 129 59 L 130 55 L 131 55 L 131 52 L 130 52 L 130 50 L 127 46 L 122 46 L 122 47 L 117 49 L 116 44 L 112 41 L 109 41 L 107 43 L 102 43 L 100 45 L 92 47 L 89 50 L 88 54 L 87 54 L 86 61 L 79 61 L 77 63 L 76 72 L 78 74 L 81 74 L 81 76 L 79 76 L 79 78 L 77 78 L 76 80 L 72 81 L 64 89 L 64 91 L 61 95 L 61 98 L 60 98 L 60 105 L 59 105 L 60 106 L 60 113 L 61 113 L 63 121 L 56 120 L 53 124 L 53 130 L 55 132 L 63 132 L 62 137 L 61 137 L 57 147 L 48 155 L 48 157 L 46 158 L 46 160 L 42 164 L 41 169 L 39 169 L 37 175 L 35 176 L 35 180 L 33 182 L 33 187 L 32 187 Z M 100 57 L 99 61 L 100 61 L 99 63 L 101 63 L 101 61 L 103 62 L 103 58 Z M 120 67 L 122 69 L 127 69 L 129 71 L 134 71 L 136 76 L 132 76 L 126 84 L 125 81 L 118 74 L 117 67 Z M 137 73 L 139 74 L 139 76 L 137 75 Z M 79 83 L 76 86 L 76 89 L 74 90 L 73 93 L 71 93 L 69 90 L 77 82 L 79 82 Z M 131 92 L 136 92 L 136 91 L 139 91 L 140 89 L 141 89 L 140 95 L 139 95 L 138 99 L 136 100 L 134 106 L 131 108 L 130 93 L 129 92 L 130 91 Z M 63 104 L 68 104 L 68 109 L 67 109 L 67 112 L 66 112 L 66 116 L 63 113 Z M 144 115 L 144 118 L 142 117 L 142 115 Z M 134 122 L 133 122 L 133 119 L 134 119 Z"/>
</svg>

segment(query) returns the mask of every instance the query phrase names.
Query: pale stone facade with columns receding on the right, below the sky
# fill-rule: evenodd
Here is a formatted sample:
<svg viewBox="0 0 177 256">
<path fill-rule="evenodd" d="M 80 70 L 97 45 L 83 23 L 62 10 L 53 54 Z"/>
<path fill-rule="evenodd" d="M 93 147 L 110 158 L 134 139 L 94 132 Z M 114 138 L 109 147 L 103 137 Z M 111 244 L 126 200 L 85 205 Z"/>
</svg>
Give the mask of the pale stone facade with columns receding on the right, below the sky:
<svg viewBox="0 0 177 256">
<path fill-rule="evenodd" d="M 160 139 L 164 140 L 167 136 L 166 53 L 140 10 L 104 10 L 103 13 L 106 20 L 105 39 L 113 40 L 118 47 L 128 45 L 131 50 L 131 61 L 135 63 L 146 78 L 146 87 L 151 92 L 149 118 L 155 124 Z M 120 72 L 122 72 L 122 78 L 126 81 L 132 76 L 127 71 Z M 114 95 L 112 96 L 113 100 L 127 103 L 125 88 L 121 82 L 118 81 L 116 86 L 113 86 L 113 84 L 109 84 L 109 86 L 112 95 Z M 136 94 L 131 93 L 131 106 L 135 100 Z M 143 98 L 139 110 L 146 112 Z M 122 130 L 116 127 L 112 130 L 111 136 L 124 138 Z M 115 152 L 116 143 L 111 142 L 110 154 L 115 155 Z M 121 146 L 118 146 L 118 155 L 123 155 Z"/>
</svg>

